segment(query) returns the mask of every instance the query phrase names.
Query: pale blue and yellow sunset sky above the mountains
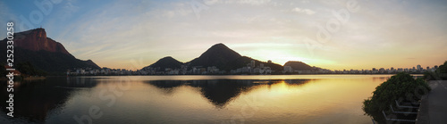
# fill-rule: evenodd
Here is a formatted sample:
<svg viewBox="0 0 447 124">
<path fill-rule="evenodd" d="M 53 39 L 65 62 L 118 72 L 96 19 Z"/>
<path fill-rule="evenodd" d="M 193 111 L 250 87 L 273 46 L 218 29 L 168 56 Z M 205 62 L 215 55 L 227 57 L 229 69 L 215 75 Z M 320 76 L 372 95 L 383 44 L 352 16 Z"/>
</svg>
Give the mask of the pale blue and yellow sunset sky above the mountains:
<svg viewBox="0 0 447 124">
<path fill-rule="evenodd" d="M 43 5 L 42 5 L 43 4 Z M 139 70 L 223 43 L 260 61 L 329 70 L 447 61 L 446 0 L 0 1 L 0 37 L 42 27 L 75 57 Z"/>
</svg>

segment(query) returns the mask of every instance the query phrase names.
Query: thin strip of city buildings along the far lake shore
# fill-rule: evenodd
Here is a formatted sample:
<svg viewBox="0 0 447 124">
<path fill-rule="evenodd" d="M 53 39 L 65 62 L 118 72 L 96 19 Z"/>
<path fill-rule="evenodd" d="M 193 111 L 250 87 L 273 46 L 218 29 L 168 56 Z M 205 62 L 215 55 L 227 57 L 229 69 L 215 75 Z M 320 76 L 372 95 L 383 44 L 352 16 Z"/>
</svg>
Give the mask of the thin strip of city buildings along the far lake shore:
<svg viewBox="0 0 447 124">
<path fill-rule="evenodd" d="M 230 70 L 229 72 L 219 70 L 215 66 L 207 68 L 191 68 L 182 67 L 181 69 L 166 69 L 158 70 L 156 68 L 143 68 L 141 70 L 126 70 L 126 69 L 92 69 L 92 68 L 78 68 L 73 70 L 67 70 L 67 75 L 238 75 L 238 74 L 254 74 L 254 75 L 270 75 L 274 70 L 270 67 L 264 66 L 263 63 L 254 64 L 254 61 L 250 62 L 246 67 L 242 67 L 237 70 Z M 413 68 L 397 68 L 393 67 L 389 69 L 385 68 L 372 68 L 371 70 L 326 70 L 318 67 L 313 67 L 313 70 L 293 70 L 291 66 L 284 66 L 284 70 L 274 72 L 274 74 L 395 74 L 399 72 L 407 72 L 411 74 L 422 74 L 425 72 L 434 72 L 438 69 L 438 66 L 422 68 L 420 65 Z"/>
</svg>

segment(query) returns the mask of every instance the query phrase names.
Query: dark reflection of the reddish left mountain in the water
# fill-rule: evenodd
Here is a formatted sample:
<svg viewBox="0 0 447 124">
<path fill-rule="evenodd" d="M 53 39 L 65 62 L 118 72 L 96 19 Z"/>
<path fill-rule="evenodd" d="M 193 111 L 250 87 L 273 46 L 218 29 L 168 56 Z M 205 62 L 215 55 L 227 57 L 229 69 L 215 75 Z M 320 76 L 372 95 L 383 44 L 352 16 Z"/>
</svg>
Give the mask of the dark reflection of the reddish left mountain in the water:
<svg viewBox="0 0 447 124">
<path fill-rule="evenodd" d="M 73 91 L 81 88 L 96 87 L 96 79 L 89 78 L 48 78 L 44 80 L 22 81 L 14 84 L 14 118 L 30 122 L 43 123 L 50 112 L 57 111 L 69 99 Z M 0 86 L 6 88 L 6 84 Z M 0 91 L 0 113 L 6 110 L 4 101 L 8 100 L 9 93 Z"/>
</svg>

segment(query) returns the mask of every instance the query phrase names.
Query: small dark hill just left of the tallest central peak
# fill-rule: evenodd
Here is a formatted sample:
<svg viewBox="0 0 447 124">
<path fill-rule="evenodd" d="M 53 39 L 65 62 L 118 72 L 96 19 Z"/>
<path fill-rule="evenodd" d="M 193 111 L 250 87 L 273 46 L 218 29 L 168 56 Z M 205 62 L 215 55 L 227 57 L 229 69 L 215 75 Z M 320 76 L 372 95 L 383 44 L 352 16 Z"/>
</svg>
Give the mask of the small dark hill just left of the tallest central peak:
<svg viewBox="0 0 447 124">
<path fill-rule="evenodd" d="M 155 63 L 145 67 L 145 68 L 160 68 L 160 70 L 164 70 L 165 68 L 171 68 L 171 69 L 180 69 L 183 62 L 179 62 L 175 60 L 171 56 L 164 57 Z M 144 68 L 143 68 L 144 69 Z"/>
</svg>

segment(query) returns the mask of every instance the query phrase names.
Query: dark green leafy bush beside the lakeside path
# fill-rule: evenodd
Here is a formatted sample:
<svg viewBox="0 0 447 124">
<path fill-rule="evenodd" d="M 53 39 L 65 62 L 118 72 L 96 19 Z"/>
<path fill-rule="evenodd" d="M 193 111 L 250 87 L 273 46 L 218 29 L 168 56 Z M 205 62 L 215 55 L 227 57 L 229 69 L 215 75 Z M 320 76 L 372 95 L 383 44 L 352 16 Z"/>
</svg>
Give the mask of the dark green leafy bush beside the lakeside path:
<svg viewBox="0 0 447 124">
<path fill-rule="evenodd" d="M 362 109 L 367 115 L 373 116 L 388 111 L 390 104 L 395 104 L 394 100 L 415 102 L 430 90 L 425 79 L 414 79 L 408 73 L 401 72 L 375 87 L 373 96 L 363 102 Z"/>
</svg>

